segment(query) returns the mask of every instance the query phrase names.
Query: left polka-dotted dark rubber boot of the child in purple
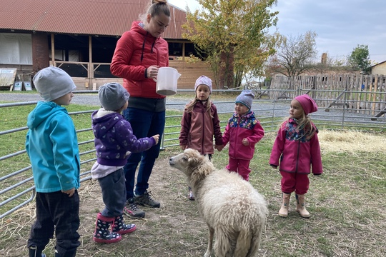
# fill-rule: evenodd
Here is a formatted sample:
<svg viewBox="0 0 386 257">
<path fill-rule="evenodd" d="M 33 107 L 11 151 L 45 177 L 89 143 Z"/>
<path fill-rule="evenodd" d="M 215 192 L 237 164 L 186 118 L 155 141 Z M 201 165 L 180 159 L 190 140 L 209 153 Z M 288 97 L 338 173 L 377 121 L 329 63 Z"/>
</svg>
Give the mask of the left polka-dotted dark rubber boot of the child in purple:
<svg viewBox="0 0 386 257">
<path fill-rule="evenodd" d="M 122 236 L 119 233 L 109 231 L 110 224 L 114 222 L 114 217 L 102 216 L 102 213 L 98 213 L 97 221 L 95 222 L 94 237 L 92 240 L 97 243 L 115 243 L 122 240 Z"/>
</svg>

